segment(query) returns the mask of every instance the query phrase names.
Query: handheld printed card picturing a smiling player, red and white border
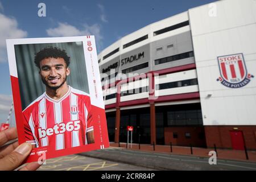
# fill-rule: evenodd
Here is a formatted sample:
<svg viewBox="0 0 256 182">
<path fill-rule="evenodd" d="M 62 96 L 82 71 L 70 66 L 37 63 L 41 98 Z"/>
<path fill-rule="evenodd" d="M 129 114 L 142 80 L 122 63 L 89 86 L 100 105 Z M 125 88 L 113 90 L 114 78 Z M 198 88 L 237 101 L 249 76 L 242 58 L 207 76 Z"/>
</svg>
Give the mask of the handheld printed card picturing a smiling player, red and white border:
<svg viewBox="0 0 256 182">
<path fill-rule="evenodd" d="M 109 147 L 94 36 L 6 42 L 26 162 Z"/>
</svg>

